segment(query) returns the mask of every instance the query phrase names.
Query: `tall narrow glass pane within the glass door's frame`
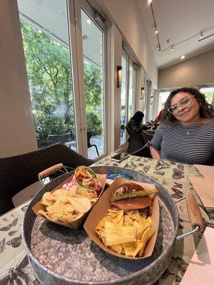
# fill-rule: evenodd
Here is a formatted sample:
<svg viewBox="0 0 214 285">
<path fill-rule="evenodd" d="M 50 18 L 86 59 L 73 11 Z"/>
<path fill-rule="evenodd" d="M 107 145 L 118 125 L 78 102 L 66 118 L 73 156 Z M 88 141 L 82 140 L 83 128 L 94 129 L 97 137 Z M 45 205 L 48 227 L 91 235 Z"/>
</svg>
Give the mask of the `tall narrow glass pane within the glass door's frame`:
<svg viewBox="0 0 214 285">
<path fill-rule="evenodd" d="M 103 92 L 103 31 L 81 9 L 83 35 L 83 71 L 86 94 L 86 125 L 90 139 L 88 157 L 105 153 Z M 88 141 L 89 143 L 89 141 Z"/>
</svg>

